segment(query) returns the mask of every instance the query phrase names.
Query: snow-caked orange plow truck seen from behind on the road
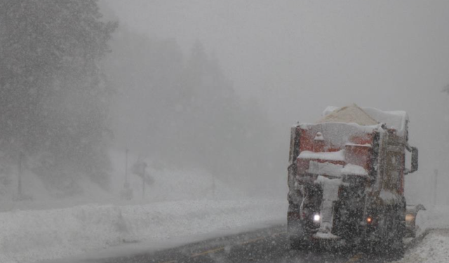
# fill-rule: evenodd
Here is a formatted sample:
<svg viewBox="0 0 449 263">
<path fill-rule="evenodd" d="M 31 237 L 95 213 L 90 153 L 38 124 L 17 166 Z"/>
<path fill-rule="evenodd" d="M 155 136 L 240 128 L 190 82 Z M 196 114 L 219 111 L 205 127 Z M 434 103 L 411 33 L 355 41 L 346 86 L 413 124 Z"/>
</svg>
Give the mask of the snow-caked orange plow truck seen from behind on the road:
<svg viewBox="0 0 449 263">
<path fill-rule="evenodd" d="M 404 197 L 404 175 L 417 168 L 406 112 L 353 104 L 297 124 L 288 166 L 290 247 L 363 244 L 402 255 L 403 238 L 414 237 L 424 209 Z"/>
</svg>

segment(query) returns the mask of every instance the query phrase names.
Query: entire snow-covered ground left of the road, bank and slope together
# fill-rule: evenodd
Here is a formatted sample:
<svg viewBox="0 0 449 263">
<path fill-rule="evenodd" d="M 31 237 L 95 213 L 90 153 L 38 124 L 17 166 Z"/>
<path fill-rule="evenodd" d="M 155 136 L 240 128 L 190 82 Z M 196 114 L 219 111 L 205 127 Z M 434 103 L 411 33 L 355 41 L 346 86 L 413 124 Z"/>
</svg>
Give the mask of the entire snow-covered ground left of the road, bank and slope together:
<svg viewBox="0 0 449 263">
<path fill-rule="evenodd" d="M 111 154 L 114 172 L 109 191 L 88 180 L 78 182 L 78 196 L 55 198 L 39 177 L 25 173 L 22 189 L 30 200 L 13 201 L 17 187 L 3 189 L 0 199 L 0 262 L 39 262 L 95 252 L 123 243 L 155 244 L 193 236 L 222 235 L 286 221 L 287 202 L 250 198 L 205 170 L 149 166 L 152 184 L 142 192 L 142 178 L 131 173 L 131 200 L 123 200 L 125 154 Z M 12 182 L 14 183 L 14 182 Z M 0 189 L 1 190 L 1 189 Z M 266 225 L 264 225 L 266 227 Z"/>
</svg>

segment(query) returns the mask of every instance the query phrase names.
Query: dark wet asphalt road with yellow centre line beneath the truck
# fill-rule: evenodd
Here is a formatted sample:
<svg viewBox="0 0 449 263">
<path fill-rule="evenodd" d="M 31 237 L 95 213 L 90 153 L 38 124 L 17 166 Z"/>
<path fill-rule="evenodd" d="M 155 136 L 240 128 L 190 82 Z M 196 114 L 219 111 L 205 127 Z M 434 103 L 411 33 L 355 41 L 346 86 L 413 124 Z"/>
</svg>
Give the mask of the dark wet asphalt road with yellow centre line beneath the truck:
<svg viewBox="0 0 449 263">
<path fill-rule="evenodd" d="M 270 227 L 234 236 L 215 238 L 178 248 L 123 257 L 95 259 L 95 263 L 380 263 L 393 259 L 358 250 L 290 250 L 286 226 Z"/>
</svg>

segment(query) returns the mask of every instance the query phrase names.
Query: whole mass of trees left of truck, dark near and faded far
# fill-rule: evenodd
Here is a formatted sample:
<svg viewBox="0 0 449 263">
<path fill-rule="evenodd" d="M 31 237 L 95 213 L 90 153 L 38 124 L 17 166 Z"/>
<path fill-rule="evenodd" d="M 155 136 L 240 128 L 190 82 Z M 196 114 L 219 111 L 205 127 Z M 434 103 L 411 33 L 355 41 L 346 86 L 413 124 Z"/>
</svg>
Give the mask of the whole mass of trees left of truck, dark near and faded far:
<svg viewBox="0 0 449 263">
<path fill-rule="evenodd" d="M 270 184 L 272 128 L 217 59 L 117 27 L 96 0 L 0 1 L 0 182 L 23 154 L 64 194 L 85 175 L 107 187 L 115 140 L 168 168 Z"/>
</svg>

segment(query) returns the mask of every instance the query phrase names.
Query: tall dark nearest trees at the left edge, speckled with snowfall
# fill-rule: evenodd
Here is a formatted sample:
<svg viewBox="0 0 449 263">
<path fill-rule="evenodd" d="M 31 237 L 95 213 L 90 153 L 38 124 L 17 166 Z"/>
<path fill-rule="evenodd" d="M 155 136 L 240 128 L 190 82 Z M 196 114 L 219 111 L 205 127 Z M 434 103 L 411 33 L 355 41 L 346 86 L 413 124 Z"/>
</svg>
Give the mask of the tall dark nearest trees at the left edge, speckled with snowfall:
<svg viewBox="0 0 449 263">
<path fill-rule="evenodd" d="M 116 27 L 95 0 L 0 1 L 3 168 L 22 152 L 48 183 L 107 183 L 112 93 L 100 61 Z"/>
</svg>

